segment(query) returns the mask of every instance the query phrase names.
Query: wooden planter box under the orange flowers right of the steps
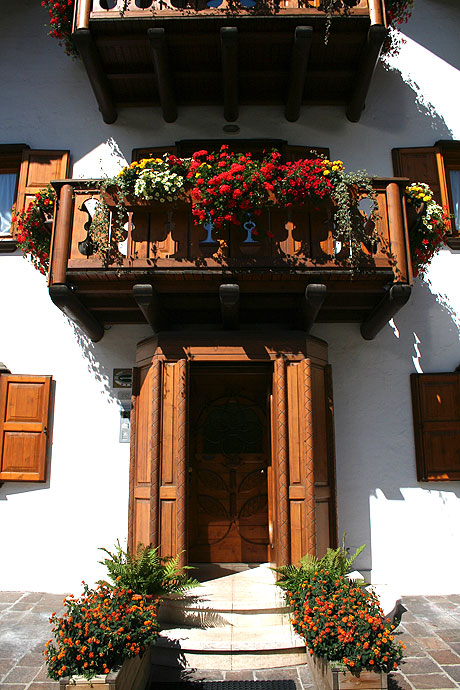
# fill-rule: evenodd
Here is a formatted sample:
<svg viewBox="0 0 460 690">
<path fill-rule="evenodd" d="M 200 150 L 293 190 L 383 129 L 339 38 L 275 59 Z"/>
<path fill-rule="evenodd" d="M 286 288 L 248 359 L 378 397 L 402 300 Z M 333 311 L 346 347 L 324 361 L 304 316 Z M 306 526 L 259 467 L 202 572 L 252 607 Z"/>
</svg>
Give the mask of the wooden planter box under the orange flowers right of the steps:
<svg viewBox="0 0 460 690">
<path fill-rule="evenodd" d="M 359 678 L 307 651 L 307 663 L 316 690 L 387 690 L 388 674 L 363 671 Z"/>
</svg>

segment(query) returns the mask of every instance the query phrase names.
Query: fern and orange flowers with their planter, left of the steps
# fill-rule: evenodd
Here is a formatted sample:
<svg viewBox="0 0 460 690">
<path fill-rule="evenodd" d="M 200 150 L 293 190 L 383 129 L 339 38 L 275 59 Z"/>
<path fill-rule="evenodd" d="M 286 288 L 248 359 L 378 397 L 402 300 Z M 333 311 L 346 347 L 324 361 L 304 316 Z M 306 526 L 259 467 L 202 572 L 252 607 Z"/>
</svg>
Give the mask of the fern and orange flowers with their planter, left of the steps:
<svg viewBox="0 0 460 690">
<path fill-rule="evenodd" d="M 53 637 L 45 659 L 48 675 L 65 688 L 104 684 L 114 690 L 144 690 L 150 676 L 150 646 L 158 636 L 161 596 L 197 584 L 178 557 L 161 558 L 158 549 L 140 545 L 135 554 L 117 543 L 101 561 L 110 582 L 64 599 L 62 616 L 52 614 Z"/>
</svg>

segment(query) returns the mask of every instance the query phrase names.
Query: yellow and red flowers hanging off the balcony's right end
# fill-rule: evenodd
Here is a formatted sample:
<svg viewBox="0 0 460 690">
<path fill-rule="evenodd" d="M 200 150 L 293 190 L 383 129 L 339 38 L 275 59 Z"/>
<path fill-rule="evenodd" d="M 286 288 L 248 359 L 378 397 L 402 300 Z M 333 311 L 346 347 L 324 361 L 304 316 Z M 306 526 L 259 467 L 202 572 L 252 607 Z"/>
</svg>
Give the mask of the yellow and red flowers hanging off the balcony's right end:
<svg viewBox="0 0 460 690">
<path fill-rule="evenodd" d="M 433 256 L 446 242 L 451 223 L 449 214 L 433 198 L 424 182 L 406 187 L 409 222 L 409 243 L 414 276 L 423 275 Z"/>
</svg>

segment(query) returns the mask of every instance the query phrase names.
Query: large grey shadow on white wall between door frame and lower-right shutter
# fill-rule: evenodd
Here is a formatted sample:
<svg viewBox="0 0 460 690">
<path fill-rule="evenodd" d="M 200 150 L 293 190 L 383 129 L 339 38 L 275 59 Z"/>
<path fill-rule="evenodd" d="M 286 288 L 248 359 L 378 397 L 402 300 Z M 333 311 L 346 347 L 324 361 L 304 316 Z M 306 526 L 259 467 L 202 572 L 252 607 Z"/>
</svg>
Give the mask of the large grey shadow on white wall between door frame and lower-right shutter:
<svg viewBox="0 0 460 690">
<path fill-rule="evenodd" d="M 387 501 L 416 500 L 419 509 L 432 510 L 427 495 L 460 500 L 460 483 L 417 481 L 413 437 L 410 374 L 453 371 L 460 360 L 460 329 L 453 309 L 416 281 L 413 296 L 374 341 L 365 342 L 357 325 L 317 325 L 313 335 L 329 343 L 334 382 L 335 441 L 339 536 L 347 545 L 367 548 L 356 567 L 372 570 L 370 497 Z M 417 490 L 415 493 L 414 490 Z M 442 492 L 442 493 L 441 493 Z M 410 507 L 412 510 L 412 505 Z M 396 508 L 396 510 L 399 510 Z M 409 510 L 409 506 L 407 507 Z M 418 515 L 402 511 L 414 519 Z M 402 530 L 410 525 L 403 525 Z M 387 535 L 391 558 L 395 535 Z"/>
</svg>

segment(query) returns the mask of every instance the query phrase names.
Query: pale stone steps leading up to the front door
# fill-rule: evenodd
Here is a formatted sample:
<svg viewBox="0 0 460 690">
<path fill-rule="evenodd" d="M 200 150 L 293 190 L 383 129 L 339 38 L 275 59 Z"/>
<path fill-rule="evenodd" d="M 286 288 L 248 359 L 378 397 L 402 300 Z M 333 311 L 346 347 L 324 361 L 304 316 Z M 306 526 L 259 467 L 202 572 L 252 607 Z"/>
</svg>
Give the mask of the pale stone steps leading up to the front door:
<svg viewBox="0 0 460 690">
<path fill-rule="evenodd" d="M 254 670 L 306 663 L 305 646 L 268 565 L 209 579 L 168 599 L 154 663 L 194 669 Z"/>
</svg>

